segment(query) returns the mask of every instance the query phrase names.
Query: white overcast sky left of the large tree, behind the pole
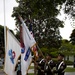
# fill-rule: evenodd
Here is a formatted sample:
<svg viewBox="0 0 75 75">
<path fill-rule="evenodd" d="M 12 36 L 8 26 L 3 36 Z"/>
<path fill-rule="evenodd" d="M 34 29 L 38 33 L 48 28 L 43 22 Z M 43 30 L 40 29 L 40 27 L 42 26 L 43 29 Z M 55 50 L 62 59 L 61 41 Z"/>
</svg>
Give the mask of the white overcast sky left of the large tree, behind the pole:
<svg viewBox="0 0 75 75">
<path fill-rule="evenodd" d="M 15 21 L 11 15 L 13 7 L 17 5 L 15 0 L 5 0 L 5 24 L 12 30 L 15 29 Z M 4 0 L 0 0 L 0 25 L 4 25 Z"/>
</svg>

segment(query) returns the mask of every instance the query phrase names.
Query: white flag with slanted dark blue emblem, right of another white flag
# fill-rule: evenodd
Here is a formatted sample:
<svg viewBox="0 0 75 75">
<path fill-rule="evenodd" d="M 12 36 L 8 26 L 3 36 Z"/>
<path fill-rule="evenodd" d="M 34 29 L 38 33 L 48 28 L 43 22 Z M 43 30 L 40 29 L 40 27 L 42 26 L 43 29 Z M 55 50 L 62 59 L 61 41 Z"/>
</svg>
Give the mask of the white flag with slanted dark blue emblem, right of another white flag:
<svg viewBox="0 0 75 75">
<path fill-rule="evenodd" d="M 31 48 L 36 44 L 36 41 L 22 19 L 21 22 L 21 72 L 22 75 L 26 75 L 32 62 Z"/>
</svg>

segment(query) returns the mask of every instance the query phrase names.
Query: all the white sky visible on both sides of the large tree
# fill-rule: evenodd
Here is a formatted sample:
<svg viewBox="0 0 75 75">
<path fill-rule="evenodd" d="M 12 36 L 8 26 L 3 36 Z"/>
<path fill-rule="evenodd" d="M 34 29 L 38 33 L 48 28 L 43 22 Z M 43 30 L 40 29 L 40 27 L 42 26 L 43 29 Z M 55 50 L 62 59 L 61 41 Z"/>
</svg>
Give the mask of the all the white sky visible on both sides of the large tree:
<svg viewBox="0 0 75 75">
<path fill-rule="evenodd" d="M 15 30 L 15 20 L 11 17 L 13 12 L 13 7 L 18 6 L 15 0 L 5 0 L 5 25 L 12 30 Z M 72 33 L 72 26 L 70 24 L 70 20 L 67 18 L 65 20 L 66 14 L 64 14 L 63 10 L 60 11 L 58 18 L 62 21 L 65 21 L 64 28 L 60 28 L 60 34 L 63 39 L 68 39 L 70 34 Z M 0 0 L 0 25 L 4 25 L 4 0 Z"/>
</svg>

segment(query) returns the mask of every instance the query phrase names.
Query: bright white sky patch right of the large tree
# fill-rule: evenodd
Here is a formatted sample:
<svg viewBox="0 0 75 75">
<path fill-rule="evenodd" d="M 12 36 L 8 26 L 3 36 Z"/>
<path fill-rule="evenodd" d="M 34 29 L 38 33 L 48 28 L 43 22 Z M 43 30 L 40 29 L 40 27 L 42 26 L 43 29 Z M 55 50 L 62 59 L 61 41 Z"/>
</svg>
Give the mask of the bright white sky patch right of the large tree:
<svg viewBox="0 0 75 75">
<path fill-rule="evenodd" d="M 70 40 L 70 35 L 74 29 L 71 25 L 72 20 L 67 14 L 64 13 L 63 8 L 60 10 L 60 14 L 57 16 L 57 18 L 59 18 L 61 21 L 64 21 L 64 28 L 60 28 L 60 34 L 62 38 Z"/>
</svg>

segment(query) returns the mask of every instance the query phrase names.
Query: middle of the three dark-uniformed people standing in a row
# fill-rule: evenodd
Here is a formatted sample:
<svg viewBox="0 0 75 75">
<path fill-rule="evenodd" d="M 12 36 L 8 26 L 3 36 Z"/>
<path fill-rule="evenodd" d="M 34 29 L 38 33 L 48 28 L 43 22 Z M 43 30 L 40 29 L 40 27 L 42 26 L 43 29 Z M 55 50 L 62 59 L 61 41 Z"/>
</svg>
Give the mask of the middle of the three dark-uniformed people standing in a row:
<svg viewBox="0 0 75 75">
<path fill-rule="evenodd" d="M 46 56 L 46 63 L 44 67 L 45 75 L 53 75 L 53 68 L 55 67 L 55 64 L 52 60 L 52 55 L 47 54 Z"/>
</svg>

